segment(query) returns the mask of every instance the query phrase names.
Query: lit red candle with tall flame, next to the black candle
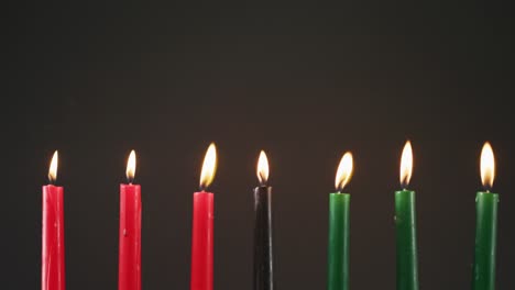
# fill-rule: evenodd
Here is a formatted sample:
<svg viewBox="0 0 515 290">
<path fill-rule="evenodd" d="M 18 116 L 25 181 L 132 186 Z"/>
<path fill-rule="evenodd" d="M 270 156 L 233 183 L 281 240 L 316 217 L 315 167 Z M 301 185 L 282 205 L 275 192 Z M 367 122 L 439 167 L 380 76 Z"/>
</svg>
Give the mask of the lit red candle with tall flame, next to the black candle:
<svg viewBox="0 0 515 290">
<path fill-rule="evenodd" d="M 217 150 L 211 143 L 204 158 L 200 192 L 194 193 L 191 237 L 191 290 L 212 290 L 212 222 L 215 197 L 206 192 L 217 168 Z"/>
</svg>

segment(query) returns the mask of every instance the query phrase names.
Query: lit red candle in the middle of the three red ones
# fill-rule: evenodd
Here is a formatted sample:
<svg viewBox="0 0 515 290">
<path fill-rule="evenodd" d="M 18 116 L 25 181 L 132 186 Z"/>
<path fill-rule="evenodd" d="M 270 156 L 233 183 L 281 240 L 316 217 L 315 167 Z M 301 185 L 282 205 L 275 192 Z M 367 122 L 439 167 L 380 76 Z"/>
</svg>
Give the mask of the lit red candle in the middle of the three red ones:
<svg viewBox="0 0 515 290">
<path fill-rule="evenodd" d="M 127 164 L 129 185 L 120 185 L 120 247 L 118 289 L 141 289 L 141 187 L 132 185 L 135 174 L 135 153 Z"/>
</svg>

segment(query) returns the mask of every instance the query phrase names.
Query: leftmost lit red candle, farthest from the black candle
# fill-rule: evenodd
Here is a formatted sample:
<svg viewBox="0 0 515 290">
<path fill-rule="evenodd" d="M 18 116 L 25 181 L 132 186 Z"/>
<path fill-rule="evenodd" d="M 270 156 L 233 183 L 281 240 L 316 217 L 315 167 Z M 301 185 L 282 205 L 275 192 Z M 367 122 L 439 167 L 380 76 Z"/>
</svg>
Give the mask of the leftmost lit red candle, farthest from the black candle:
<svg viewBox="0 0 515 290">
<path fill-rule="evenodd" d="M 52 157 L 48 186 L 43 187 L 43 238 L 41 289 L 65 289 L 63 188 L 53 186 L 57 178 L 57 152 Z"/>
</svg>

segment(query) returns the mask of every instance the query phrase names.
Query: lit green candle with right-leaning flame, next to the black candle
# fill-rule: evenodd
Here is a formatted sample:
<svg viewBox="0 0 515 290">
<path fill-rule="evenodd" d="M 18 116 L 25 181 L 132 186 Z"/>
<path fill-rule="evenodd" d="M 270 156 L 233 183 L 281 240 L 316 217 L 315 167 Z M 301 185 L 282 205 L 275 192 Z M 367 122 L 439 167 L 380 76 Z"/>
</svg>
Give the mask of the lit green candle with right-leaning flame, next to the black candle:
<svg viewBox="0 0 515 290">
<path fill-rule="evenodd" d="M 335 188 L 329 194 L 328 290 L 349 289 L 350 194 L 342 193 L 352 176 L 352 154 L 346 153 L 338 166 Z"/>
</svg>

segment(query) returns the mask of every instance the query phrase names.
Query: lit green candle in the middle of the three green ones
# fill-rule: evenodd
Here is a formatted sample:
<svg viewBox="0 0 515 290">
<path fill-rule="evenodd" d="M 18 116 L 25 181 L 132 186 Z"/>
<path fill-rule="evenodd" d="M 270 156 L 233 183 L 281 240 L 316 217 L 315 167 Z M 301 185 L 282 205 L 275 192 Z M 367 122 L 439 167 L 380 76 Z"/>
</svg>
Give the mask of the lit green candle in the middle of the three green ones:
<svg viewBox="0 0 515 290">
<path fill-rule="evenodd" d="M 397 239 L 397 290 L 418 289 L 418 261 L 415 191 L 406 190 L 412 178 L 412 144 L 406 142 L 401 157 L 401 187 L 395 192 L 395 230 Z"/>
</svg>

